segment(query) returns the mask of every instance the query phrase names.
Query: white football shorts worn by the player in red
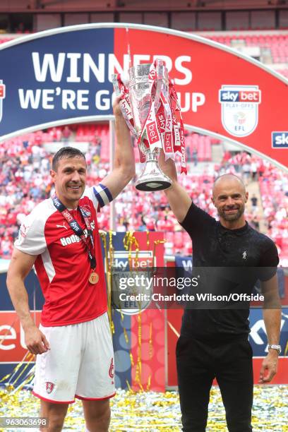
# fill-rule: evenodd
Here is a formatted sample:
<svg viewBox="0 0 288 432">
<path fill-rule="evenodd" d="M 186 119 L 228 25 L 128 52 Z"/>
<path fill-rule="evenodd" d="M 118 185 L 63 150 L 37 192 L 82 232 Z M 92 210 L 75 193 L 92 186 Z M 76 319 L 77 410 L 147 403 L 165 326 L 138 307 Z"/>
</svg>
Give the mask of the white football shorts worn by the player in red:
<svg viewBox="0 0 288 432">
<path fill-rule="evenodd" d="M 114 355 L 107 313 L 60 327 L 43 327 L 50 349 L 36 357 L 32 393 L 48 402 L 70 404 L 115 395 Z"/>
</svg>

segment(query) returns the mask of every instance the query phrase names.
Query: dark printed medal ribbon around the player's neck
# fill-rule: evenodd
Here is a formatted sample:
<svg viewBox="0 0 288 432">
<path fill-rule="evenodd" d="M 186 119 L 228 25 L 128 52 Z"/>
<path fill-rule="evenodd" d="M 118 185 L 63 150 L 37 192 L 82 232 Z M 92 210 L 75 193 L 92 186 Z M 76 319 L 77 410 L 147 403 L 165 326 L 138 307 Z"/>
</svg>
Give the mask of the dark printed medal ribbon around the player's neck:
<svg viewBox="0 0 288 432">
<path fill-rule="evenodd" d="M 94 270 L 96 267 L 96 257 L 94 254 L 94 240 L 93 240 L 93 236 L 92 236 L 92 229 L 91 229 L 91 225 L 90 225 L 90 220 L 89 220 L 87 213 L 85 212 L 85 210 L 82 207 L 79 207 L 79 210 L 81 212 L 81 215 L 83 216 L 83 219 L 84 219 L 84 222 L 85 222 L 85 225 L 87 228 L 88 236 L 90 237 L 90 241 L 92 244 L 92 251 L 90 250 L 90 246 L 89 246 L 88 241 L 85 237 L 83 229 L 80 227 L 78 222 L 73 218 L 73 216 L 71 215 L 69 210 L 67 210 L 65 205 L 62 204 L 61 201 L 59 200 L 59 198 L 57 198 L 56 196 L 54 196 L 52 198 L 52 201 L 53 201 L 53 204 L 56 207 L 56 209 L 59 212 L 61 212 L 62 216 L 66 219 L 66 221 L 68 222 L 72 231 L 80 238 L 81 241 L 83 241 L 83 244 L 85 245 L 85 248 L 88 252 L 88 257 L 90 260 L 90 268 L 92 268 L 92 270 Z"/>
</svg>

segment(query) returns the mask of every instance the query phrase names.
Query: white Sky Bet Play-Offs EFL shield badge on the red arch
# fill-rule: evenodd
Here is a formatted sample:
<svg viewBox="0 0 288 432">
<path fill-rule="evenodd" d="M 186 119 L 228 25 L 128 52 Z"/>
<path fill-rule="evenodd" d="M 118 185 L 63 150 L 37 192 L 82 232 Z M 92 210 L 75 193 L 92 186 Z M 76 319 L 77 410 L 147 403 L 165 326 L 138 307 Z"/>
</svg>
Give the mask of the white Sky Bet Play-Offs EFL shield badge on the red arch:
<svg viewBox="0 0 288 432">
<path fill-rule="evenodd" d="M 258 85 L 222 85 L 219 102 L 222 125 L 230 135 L 248 136 L 255 131 L 261 102 Z"/>
</svg>

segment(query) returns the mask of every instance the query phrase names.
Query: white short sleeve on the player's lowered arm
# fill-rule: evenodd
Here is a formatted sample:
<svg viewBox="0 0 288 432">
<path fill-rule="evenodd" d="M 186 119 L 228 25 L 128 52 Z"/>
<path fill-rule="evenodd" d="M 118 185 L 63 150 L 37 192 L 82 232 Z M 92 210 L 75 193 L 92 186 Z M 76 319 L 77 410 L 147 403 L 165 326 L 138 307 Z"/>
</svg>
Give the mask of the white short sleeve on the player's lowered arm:
<svg viewBox="0 0 288 432">
<path fill-rule="evenodd" d="M 37 218 L 35 212 L 31 212 L 23 220 L 14 246 L 29 255 L 41 255 L 46 250 L 44 222 Z"/>
</svg>

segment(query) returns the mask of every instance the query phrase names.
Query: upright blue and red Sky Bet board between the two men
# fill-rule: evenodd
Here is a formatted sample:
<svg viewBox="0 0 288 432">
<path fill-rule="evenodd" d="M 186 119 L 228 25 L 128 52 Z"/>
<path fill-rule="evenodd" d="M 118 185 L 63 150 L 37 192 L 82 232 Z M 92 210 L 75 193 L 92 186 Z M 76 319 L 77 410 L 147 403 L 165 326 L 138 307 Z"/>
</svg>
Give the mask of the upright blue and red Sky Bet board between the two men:
<svg viewBox="0 0 288 432">
<path fill-rule="evenodd" d="M 117 276 L 121 271 L 127 274 L 129 268 L 133 271 L 164 265 L 163 232 L 115 233 L 112 238 L 109 235 L 106 243 L 112 246 Z M 107 261 L 105 265 L 107 271 Z M 112 270 L 112 284 L 113 281 Z M 139 313 L 138 301 L 129 301 L 126 309 L 117 310 L 112 301 L 116 387 L 165 390 L 164 316 L 163 310 L 141 308 Z"/>
</svg>

